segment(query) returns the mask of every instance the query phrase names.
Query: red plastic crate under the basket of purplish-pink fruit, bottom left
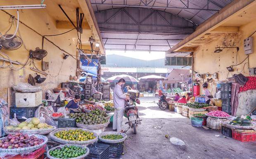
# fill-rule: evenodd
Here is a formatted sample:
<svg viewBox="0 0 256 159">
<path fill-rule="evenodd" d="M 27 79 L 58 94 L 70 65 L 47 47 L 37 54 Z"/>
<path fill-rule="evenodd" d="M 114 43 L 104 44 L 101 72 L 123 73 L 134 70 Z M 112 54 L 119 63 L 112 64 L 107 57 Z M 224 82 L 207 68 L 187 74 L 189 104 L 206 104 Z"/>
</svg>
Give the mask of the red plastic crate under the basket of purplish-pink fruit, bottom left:
<svg viewBox="0 0 256 159">
<path fill-rule="evenodd" d="M 44 159 L 44 153 L 46 145 L 41 147 L 40 149 L 31 152 L 30 154 L 25 154 L 21 156 L 20 154 L 17 154 L 14 157 L 8 157 L 8 159 Z"/>
</svg>

